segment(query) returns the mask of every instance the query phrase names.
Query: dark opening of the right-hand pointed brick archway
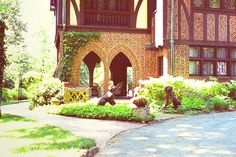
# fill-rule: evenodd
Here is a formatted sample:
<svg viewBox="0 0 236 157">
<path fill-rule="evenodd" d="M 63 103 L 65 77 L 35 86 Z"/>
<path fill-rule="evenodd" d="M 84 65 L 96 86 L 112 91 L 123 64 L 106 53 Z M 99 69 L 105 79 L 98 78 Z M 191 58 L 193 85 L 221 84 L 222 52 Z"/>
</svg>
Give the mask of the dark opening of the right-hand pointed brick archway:
<svg viewBox="0 0 236 157">
<path fill-rule="evenodd" d="M 118 53 L 112 60 L 110 65 L 110 79 L 114 82 L 114 85 L 118 83 L 123 83 L 124 86 L 122 88 L 121 96 L 127 96 L 128 88 L 132 86 L 130 84 L 132 80 L 133 70 L 130 60 L 124 53 Z"/>
</svg>

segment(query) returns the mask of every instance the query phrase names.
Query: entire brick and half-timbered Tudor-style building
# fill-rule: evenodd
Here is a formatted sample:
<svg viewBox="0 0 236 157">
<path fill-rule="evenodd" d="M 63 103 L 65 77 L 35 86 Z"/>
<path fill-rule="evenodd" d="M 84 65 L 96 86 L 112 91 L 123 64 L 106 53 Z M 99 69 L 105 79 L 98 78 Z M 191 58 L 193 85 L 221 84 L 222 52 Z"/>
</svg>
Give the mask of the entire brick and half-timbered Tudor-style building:
<svg viewBox="0 0 236 157">
<path fill-rule="evenodd" d="M 103 89 L 109 80 L 132 85 L 171 74 L 186 78 L 236 76 L 236 1 L 174 0 L 174 55 L 171 61 L 171 0 L 51 0 L 56 16 L 58 68 L 65 31 L 100 32 L 99 41 L 79 49 L 70 83 L 80 84 L 80 65 L 102 62 Z M 173 66 L 171 63 L 173 62 Z M 171 69 L 173 67 L 173 69 Z M 123 95 L 126 95 L 124 87 Z"/>
</svg>

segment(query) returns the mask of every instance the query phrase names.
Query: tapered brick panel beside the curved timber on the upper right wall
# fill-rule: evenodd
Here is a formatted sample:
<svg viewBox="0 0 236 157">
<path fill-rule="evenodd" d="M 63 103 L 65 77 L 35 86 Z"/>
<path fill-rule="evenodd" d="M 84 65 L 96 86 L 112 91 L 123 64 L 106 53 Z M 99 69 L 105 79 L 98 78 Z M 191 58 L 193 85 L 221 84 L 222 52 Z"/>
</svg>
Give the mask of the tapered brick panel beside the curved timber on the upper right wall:
<svg viewBox="0 0 236 157">
<path fill-rule="evenodd" d="M 189 28 L 183 7 L 181 7 L 181 39 L 189 39 Z"/>
</svg>

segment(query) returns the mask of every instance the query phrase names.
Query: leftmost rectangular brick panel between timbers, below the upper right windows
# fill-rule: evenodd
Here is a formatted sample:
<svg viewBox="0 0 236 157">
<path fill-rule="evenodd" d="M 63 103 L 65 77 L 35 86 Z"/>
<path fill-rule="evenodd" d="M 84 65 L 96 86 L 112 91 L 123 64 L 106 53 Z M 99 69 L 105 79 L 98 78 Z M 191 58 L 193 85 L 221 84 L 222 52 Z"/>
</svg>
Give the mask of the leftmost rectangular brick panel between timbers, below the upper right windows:
<svg viewBox="0 0 236 157">
<path fill-rule="evenodd" d="M 203 40 L 203 15 L 201 13 L 194 14 L 194 39 Z"/>
</svg>

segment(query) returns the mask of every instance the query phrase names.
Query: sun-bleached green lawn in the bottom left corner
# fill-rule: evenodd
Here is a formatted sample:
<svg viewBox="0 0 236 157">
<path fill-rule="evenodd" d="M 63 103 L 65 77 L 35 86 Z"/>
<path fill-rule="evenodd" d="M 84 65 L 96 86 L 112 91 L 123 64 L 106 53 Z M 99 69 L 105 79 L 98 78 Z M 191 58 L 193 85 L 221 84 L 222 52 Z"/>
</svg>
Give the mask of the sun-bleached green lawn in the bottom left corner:
<svg viewBox="0 0 236 157">
<path fill-rule="evenodd" d="M 92 139 L 9 114 L 0 119 L 0 143 L 1 156 L 6 157 L 74 157 L 95 146 Z"/>
</svg>

